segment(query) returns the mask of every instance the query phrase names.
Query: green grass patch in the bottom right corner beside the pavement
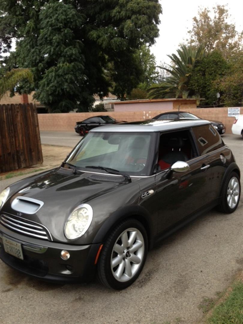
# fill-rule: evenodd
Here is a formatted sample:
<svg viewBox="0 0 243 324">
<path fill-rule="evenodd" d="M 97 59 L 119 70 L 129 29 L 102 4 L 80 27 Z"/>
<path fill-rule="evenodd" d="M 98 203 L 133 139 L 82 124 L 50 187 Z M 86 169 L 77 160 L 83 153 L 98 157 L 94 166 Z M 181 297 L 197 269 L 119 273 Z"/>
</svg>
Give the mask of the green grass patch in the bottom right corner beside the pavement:
<svg viewBox="0 0 243 324">
<path fill-rule="evenodd" d="M 232 286 L 227 299 L 215 307 L 208 324 L 242 324 L 243 323 L 243 282 Z"/>
</svg>

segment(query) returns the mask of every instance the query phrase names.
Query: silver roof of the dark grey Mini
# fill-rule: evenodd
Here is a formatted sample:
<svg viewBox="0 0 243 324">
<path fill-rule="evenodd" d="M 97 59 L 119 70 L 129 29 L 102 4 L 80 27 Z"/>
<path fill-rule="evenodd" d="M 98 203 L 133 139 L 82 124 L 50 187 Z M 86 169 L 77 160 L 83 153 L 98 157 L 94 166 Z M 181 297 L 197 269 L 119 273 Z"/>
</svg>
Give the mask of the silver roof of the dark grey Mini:
<svg viewBox="0 0 243 324">
<path fill-rule="evenodd" d="M 96 127 L 90 132 L 161 132 L 180 128 L 188 128 L 199 125 L 211 124 L 210 121 L 202 119 L 190 120 L 146 120 L 134 121 L 127 124 L 116 124 Z"/>
</svg>

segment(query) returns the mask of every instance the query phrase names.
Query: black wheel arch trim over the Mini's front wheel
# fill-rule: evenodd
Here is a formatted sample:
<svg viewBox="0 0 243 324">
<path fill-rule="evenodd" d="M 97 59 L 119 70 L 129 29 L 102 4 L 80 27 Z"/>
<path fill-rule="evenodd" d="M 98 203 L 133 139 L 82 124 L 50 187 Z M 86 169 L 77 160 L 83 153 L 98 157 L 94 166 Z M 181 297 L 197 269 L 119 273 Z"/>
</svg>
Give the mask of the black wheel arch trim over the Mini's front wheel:
<svg viewBox="0 0 243 324">
<path fill-rule="evenodd" d="M 145 228 L 148 237 L 148 248 L 153 246 L 152 221 L 148 212 L 140 206 L 129 206 L 113 213 L 107 218 L 103 225 L 98 230 L 93 243 L 104 242 L 110 232 L 122 221 L 134 218 L 139 221 Z"/>
</svg>

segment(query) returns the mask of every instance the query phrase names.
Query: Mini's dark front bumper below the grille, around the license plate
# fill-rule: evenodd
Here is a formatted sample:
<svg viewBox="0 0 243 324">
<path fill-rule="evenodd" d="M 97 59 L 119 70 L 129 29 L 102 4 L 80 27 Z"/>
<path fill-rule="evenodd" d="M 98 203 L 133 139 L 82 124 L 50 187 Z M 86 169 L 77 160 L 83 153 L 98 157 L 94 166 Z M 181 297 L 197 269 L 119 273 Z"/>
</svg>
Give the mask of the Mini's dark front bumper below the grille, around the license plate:
<svg viewBox="0 0 243 324">
<path fill-rule="evenodd" d="M 8 254 L 3 237 L 21 244 L 24 260 Z M 93 279 L 95 259 L 100 244 L 71 245 L 30 238 L 0 228 L 0 259 L 10 267 L 33 277 L 51 282 L 89 282 Z M 60 257 L 62 250 L 70 253 L 68 260 Z"/>
</svg>

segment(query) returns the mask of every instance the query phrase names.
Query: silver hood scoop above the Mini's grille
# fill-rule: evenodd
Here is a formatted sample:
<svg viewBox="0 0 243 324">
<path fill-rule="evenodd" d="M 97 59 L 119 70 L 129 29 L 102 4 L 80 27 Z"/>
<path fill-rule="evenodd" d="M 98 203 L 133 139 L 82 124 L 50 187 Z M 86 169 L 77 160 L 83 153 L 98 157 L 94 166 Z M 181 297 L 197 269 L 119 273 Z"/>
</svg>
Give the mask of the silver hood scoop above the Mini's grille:
<svg viewBox="0 0 243 324">
<path fill-rule="evenodd" d="M 43 205 L 40 200 L 24 196 L 16 197 L 11 203 L 12 209 L 24 214 L 35 214 Z"/>
</svg>

